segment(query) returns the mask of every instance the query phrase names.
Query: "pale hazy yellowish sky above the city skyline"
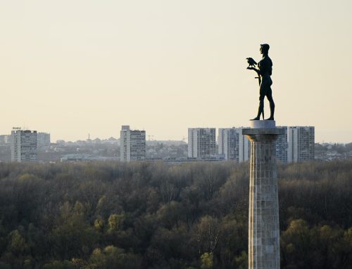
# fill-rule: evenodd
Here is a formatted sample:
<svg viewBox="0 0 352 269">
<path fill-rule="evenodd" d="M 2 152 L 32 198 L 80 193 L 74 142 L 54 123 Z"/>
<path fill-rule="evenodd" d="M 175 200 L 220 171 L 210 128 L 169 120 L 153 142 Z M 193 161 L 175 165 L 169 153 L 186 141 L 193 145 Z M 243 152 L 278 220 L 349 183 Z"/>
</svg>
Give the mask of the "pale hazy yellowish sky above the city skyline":
<svg viewBox="0 0 352 269">
<path fill-rule="evenodd" d="M 351 0 L 0 1 L 0 133 L 157 140 L 248 126 L 270 44 L 277 125 L 352 142 Z M 265 114 L 269 115 L 265 100 Z"/>
</svg>

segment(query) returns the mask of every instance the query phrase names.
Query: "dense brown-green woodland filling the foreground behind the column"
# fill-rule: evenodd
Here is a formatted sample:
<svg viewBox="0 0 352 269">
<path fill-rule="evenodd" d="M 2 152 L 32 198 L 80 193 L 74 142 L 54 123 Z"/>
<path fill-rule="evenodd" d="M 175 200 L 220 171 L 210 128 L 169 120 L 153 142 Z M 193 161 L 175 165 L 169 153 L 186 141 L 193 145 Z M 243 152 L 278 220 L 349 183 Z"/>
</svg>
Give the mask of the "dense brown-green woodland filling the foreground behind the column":
<svg viewBox="0 0 352 269">
<path fill-rule="evenodd" d="M 281 268 L 352 268 L 352 162 L 278 177 Z M 0 269 L 244 269 L 248 190 L 249 164 L 0 164 Z"/>
</svg>

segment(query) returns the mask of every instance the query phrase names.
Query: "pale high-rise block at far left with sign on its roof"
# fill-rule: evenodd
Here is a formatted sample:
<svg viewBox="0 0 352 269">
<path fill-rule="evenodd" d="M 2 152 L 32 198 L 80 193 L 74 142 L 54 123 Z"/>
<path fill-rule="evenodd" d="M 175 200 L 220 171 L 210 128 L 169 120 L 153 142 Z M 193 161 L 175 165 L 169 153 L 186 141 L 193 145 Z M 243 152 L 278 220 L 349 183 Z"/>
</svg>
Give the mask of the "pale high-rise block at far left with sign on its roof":
<svg viewBox="0 0 352 269">
<path fill-rule="evenodd" d="M 37 131 L 14 128 L 11 131 L 11 162 L 37 161 Z"/>
</svg>

